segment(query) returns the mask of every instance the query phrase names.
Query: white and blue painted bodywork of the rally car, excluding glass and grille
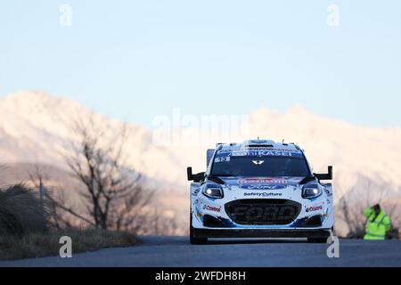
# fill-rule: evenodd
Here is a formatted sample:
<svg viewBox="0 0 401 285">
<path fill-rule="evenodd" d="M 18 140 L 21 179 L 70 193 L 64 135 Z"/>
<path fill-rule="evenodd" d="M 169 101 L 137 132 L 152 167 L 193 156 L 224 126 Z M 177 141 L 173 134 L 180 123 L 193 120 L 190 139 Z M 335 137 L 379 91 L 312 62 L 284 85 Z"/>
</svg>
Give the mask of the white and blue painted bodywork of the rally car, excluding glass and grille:
<svg viewBox="0 0 401 285">
<path fill-rule="evenodd" d="M 292 153 L 302 153 L 296 145 L 274 143 L 274 150 L 294 151 Z M 209 166 L 206 176 L 210 175 L 212 164 L 218 160 L 218 153 L 224 151 L 241 151 L 248 150 L 246 143 L 241 144 L 225 144 L 217 145 L 213 158 L 208 158 Z M 220 152 L 219 152 L 219 151 Z M 253 149 L 252 149 L 253 150 Z M 261 148 L 260 150 L 264 150 Z M 248 150 L 249 151 L 249 150 Z M 299 152 L 300 151 L 300 152 Z M 210 152 L 210 151 L 209 151 Z M 277 153 L 278 154 L 278 153 Z M 287 153 L 286 153 L 287 154 Z M 275 154 L 274 154 L 275 155 Z M 209 154 L 210 156 L 210 154 Z M 305 156 L 304 156 L 305 157 Z M 226 159 L 226 158 L 225 158 Z M 255 162 L 258 163 L 258 162 Z M 259 162 L 260 163 L 260 162 Z M 309 165 L 308 165 L 309 167 Z M 310 167 L 309 167 L 310 168 Z M 311 171 L 312 172 L 312 171 Z M 224 183 L 219 183 L 224 191 L 224 198 L 212 199 L 202 193 L 202 187 L 205 183 L 191 184 L 191 215 L 192 227 L 194 229 L 210 229 L 219 230 L 331 230 L 334 223 L 333 210 L 333 187 L 331 183 L 320 183 L 322 194 L 315 199 L 304 199 L 302 197 L 302 187 L 300 182 L 305 177 L 219 177 Z M 211 182 L 213 183 L 213 182 Z M 289 224 L 239 224 L 233 221 L 233 216 L 227 213 L 226 205 L 237 200 L 253 200 L 253 199 L 272 199 L 288 200 L 291 203 L 299 203 L 299 214 Z M 289 202 L 289 203 L 290 203 Z M 279 208 L 282 211 L 282 208 Z M 282 213 L 290 213 L 291 209 L 286 208 Z M 248 213 L 248 212 L 247 212 Z M 251 214 L 251 213 L 248 213 Z M 248 215 L 247 214 L 247 215 Z M 274 214 L 276 216 L 280 213 Z M 204 217 L 212 216 L 222 221 L 224 226 L 207 226 L 204 224 Z M 321 224 L 318 226 L 305 226 L 306 221 L 312 217 L 320 216 Z"/>
</svg>

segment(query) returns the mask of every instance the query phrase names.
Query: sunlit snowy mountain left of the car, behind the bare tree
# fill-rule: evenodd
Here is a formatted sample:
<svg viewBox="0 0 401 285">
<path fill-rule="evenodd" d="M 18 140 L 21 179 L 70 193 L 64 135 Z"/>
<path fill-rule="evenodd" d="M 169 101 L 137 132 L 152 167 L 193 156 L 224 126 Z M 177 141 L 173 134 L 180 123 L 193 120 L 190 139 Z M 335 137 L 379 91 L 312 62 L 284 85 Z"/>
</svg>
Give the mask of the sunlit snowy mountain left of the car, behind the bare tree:
<svg viewBox="0 0 401 285">
<path fill-rule="evenodd" d="M 0 101 L 0 161 L 4 163 L 47 164 L 65 168 L 61 153 L 70 151 L 77 139 L 73 121 L 89 118 L 92 111 L 77 102 L 43 92 L 11 94 Z M 123 122 L 94 114 L 95 126 L 121 129 Z M 141 126 L 127 125 L 125 156 L 130 167 L 157 182 L 181 180 L 171 153 L 151 143 L 151 132 Z M 184 169 L 181 169 L 184 172 Z M 162 178 L 160 178 L 162 177 Z"/>
</svg>

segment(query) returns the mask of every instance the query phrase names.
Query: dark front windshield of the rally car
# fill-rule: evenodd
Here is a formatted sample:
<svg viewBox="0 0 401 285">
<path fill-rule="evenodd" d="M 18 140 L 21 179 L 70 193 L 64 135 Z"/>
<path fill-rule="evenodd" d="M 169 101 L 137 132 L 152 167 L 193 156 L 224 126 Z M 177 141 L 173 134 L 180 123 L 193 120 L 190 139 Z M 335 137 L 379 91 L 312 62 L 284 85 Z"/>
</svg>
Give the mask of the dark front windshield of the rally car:
<svg viewBox="0 0 401 285">
<path fill-rule="evenodd" d="M 238 156 L 216 158 L 212 176 L 305 177 L 310 175 L 303 157 Z"/>
</svg>

